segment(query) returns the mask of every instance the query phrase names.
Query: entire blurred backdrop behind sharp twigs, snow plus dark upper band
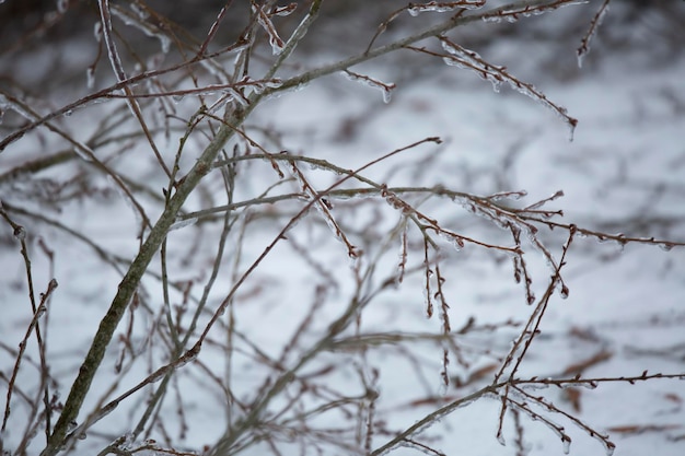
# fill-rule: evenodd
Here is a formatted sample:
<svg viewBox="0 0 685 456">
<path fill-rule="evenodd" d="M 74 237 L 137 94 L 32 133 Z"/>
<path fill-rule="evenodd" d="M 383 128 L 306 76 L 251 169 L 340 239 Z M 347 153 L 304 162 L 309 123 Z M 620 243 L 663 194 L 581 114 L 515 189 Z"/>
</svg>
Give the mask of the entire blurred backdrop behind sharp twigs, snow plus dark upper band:
<svg viewBox="0 0 685 456">
<path fill-rule="evenodd" d="M 173 27 L 164 25 L 146 34 L 127 25 L 124 12 L 135 11 L 128 3 L 149 5 L 160 17 L 169 17 L 162 25 Z M 187 55 L 169 36 L 184 44 L 201 43 L 224 3 L 113 2 L 115 10 L 121 10 L 114 21 L 126 68 L 133 74 L 184 61 Z M 212 49 L 233 43 L 245 26 L 247 2 L 233 3 Z M 297 13 L 277 22 L 282 36 L 294 28 L 311 2 L 300 3 Z M 503 3 L 488 1 L 487 8 Z M 480 196 L 525 190 L 527 196 L 521 200 L 507 202 L 519 208 L 562 190 L 562 197 L 544 206 L 562 210 L 562 217 L 552 219 L 555 222 L 573 223 L 589 234 L 623 233 L 628 238 L 684 243 L 685 3 L 611 2 L 579 68 L 577 49 L 603 3 L 590 1 L 513 24 L 467 24 L 448 34 L 568 109 L 579 120 L 572 141 L 559 117 L 507 84 L 497 93 L 473 71 L 410 50 L 352 68 L 394 83 L 390 103 L 384 102 L 383 91 L 333 74 L 265 101 L 245 122 L 245 135 L 270 153 L 288 151 L 342 169 L 356 169 L 393 150 L 439 137 L 440 144 L 423 143 L 361 174 L 390 188 L 422 189 L 407 192 L 407 201 L 445 229 L 483 242 L 511 245 L 511 234 L 472 214 L 458 198 L 454 202 L 426 189 Z M 283 67 L 283 78 L 363 52 L 378 25 L 406 3 L 332 0 L 323 4 L 322 16 Z M 403 12 L 376 44 L 443 20 L 437 13 L 414 17 Z M 115 82 L 106 50 L 93 34 L 97 21 L 94 2 L 0 3 L 0 140 Z M 270 59 L 271 49 L 263 43 L 252 56 L 254 78 Z M 233 57 L 222 61 L 231 65 Z M 93 79 L 88 77 L 89 68 Z M 218 78 L 210 70 L 197 69 L 197 78 Z M 193 84 L 185 70 L 160 80 L 163 89 L 146 82 L 138 89 L 159 93 Z M 208 93 L 207 100 L 211 97 Z M 144 115 L 154 143 L 171 166 L 198 98 L 141 98 L 141 103 L 147 103 Z M 193 166 L 213 131 L 198 128 L 188 137 L 178 162 L 181 175 Z M 103 167 L 78 151 L 79 144 L 121 178 L 140 208 L 131 207 Z M 235 147 L 242 154 L 260 152 L 249 140 L 239 139 Z M 233 143 L 227 156 L 232 156 L 231 148 Z M 247 413 L 247 405 L 268 390 L 276 374 L 295 364 L 355 300 L 369 300 L 356 326 L 299 372 L 300 379 L 269 407 L 265 422 L 279 422 L 282 428 L 264 425 L 251 440 L 240 442 L 243 454 L 353 454 L 359 447 L 355 439 L 364 432 L 353 425 L 363 422 L 355 416 L 361 409 L 341 405 L 351 405 L 353 398 L 365 404 L 364 417 L 369 408 L 378 417 L 370 445 L 375 449 L 396 430 L 492 382 L 531 312 L 525 288 L 514 281 L 510 256 L 469 243 L 455 249 L 436 236 L 439 245 L 431 257 L 439 260 L 445 279 L 442 292 L 455 331 L 450 346 L 439 337 L 444 328 L 439 311 L 426 317 L 423 237 L 414 226 L 406 229 L 403 283 L 386 287 L 397 274 L 400 233 L 407 222 L 382 198 L 352 194 L 344 198 L 342 191 L 330 197 L 330 211 L 340 227 L 364 252 L 358 264 L 352 265 L 345 245 L 312 210 L 233 290 L 303 206 L 297 198 L 240 206 L 265 195 L 301 191 L 298 182 L 288 178 L 288 164 L 279 163 L 286 178 L 267 160 L 245 160 L 224 172 L 223 178 L 214 169 L 190 196 L 183 213 L 196 223 L 172 231 L 165 262 L 158 257 L 150 266 L 79 422 L 171 361 L 173 331 L 167 327 L 173 325 L 167 318 L 176 320 L 178 328 L 188 327 L 194 306 L 211 279 L 225 226 L 230 229 L 225 253 L 218 261 L 221 269 L 209 290 L 207 311 L 198 316 L 199 331 L 227 295 L 231 309 L 209 332 L 197 361 L 172 377 L 164 399 L 152 409 L 160 417 L 151 421 L 154 424 L 148 425 L 142 418 L 156 390 L 156 384 L 151 384 L 89 430 L 73 454 L 107 454 L 103 448 L 117 439 L 118 446 L 108 449 L 113 454 L 124 449 L 154 454 L 143 448 L 150 442 L 143 439 L 177 448 L 177 453 L 158 454 L 200 454 L 212 447 L 227 423 Z M 299 166 L 320 190 L 340 179 L 322 166 Z M 229 200 L 225 187 L 231 185 Z M 166 187 L 169 177 L 160 171 L 140 125 L 121 100 L 57 116 L 49 126 L 27 131 L 0 151 L 0 199 L 3 213 L 25 230 L 33 293 L 45 293 L 50 279 L 59 283 L 40 320 L 47 351 L 39 353 L 35 336 L 27 339 L 11 414 L 5 409 L 2 449 L 7 454 L 37 454 L 45 445 L 45 435 L 39 433 L 31 442 L 25 440 L 31 425 L 43 422 L 42 409 L 32 405 L 43 406 L 45 384 L 50 394 L 59 391 L 56 402 L 66 399 L 100 320 L 139 249 L 144 224 L 140 214 L 154 223 Z M 225 221 L 225 210 L 204 213 L 198 220 L 193 217 L 194 211 L 228 203 L 237 204 Z M 2 398 L 9 397 L 18 347 L 33 317 L 26 261 L 13 231 L 10 223 L 0 230 Z M 568 232 L 541 226 L 539 238 L 558 259 Z M 650 242 L 600 241 L 594 235 L 574 238 L 561 272 L 569 295 L 561 299 L 557 293 L 550 299 L 542 332 L 519 367 L 521 378 L 685 373 L 685 250 L 663 243 L 660 246 Z M 549 265 L 535 248 L 526 252 L 525 259 L 532 292 L 539 297 L 549 282 Z M 189 346 L 196 337 L 191 335 Z M 441 378 L 445 347 L 451 354 L 448 386 Z M 43 355 L 49 361 L 49 376 L 40 369 Z M 618 456 L 675 456 L 685 451 L 682 381 L 607 382 L 596 388 L 550 387 L 532 394 L 543 395 L 568 416 L 544 407 L 537 412 L 549 422 L 531 420 L 524 413 L 508 416 L 498 442 L 500 401 L 483 398 L 437 420 L 393 454 L 416 454 L 421 448 L 439 454 L 431 447 L 445 455 L 556 455 L 567 449 L 576 455 L 603 455 L 606 448 L 601 439 L 593 439 L 594 431 L 609 435 Z M 329 404 L 340 407 L 327 412 L 328 406 L 323 405 Z M 139 423 L 144 431 L 133 437 L 130 432 Z M 560 442 L 554 423 L 564 425 L 572 439 L 570 448 Z M 334 442 L 332 435 L 339 441 Z M 340 443 L 345 441 L 349 442 L 347 451 Z"/>
</svg>

